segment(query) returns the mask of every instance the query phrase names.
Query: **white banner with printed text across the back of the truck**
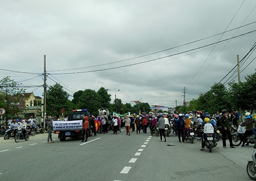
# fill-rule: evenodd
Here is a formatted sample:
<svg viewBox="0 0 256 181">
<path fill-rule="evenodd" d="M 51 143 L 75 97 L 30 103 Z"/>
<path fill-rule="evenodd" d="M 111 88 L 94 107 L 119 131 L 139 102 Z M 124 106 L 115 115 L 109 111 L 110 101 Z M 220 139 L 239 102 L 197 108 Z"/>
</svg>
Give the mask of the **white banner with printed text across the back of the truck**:
<svg viewBox="0 0 256 181">
<path fill-rule="evenodd" d="M 53 121 L 52 122 L 52 128 L 53 128 L 54 131 L 82 129 L 82 120 Z"/>
</svg>

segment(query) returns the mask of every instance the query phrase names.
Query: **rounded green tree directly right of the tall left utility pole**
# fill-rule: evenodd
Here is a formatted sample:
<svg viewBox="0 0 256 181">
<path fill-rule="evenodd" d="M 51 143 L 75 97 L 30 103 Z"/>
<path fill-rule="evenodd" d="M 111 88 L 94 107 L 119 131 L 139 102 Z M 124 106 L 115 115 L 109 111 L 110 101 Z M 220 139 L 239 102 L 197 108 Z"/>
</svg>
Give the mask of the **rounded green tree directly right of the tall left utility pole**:
<svg viewBox="0 0 256 181">
<path fill-rule="evenodd" d="M 47 115 L 60 115 L 60 110 L 65 109 L 65 112 L 71 111 L 69 94 L 63 90 L 63 87 L 56 83 L 50 86 L 46 93 L 46 112 Z"/>
</svg>

